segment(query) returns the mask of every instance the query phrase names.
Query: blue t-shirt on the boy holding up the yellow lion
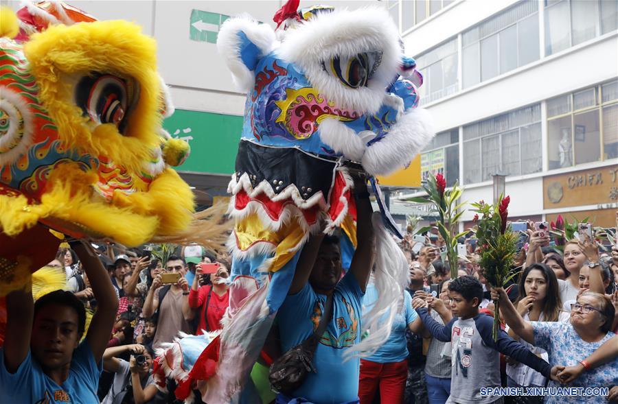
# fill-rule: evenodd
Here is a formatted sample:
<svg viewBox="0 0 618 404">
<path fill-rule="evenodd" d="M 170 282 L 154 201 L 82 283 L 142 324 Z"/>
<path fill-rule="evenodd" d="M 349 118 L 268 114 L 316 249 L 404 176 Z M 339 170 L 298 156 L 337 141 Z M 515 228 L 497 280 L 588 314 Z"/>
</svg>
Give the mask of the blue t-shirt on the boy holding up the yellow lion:
<svg viewBox="0 0 618 404">
<path fill-rule="evenodd" d="M 102 370 L 103 361 L 95 363 L 87 340 L 73 351 L 69 377 L 62 385 L 43 373 L 30 350 L 17 371 L 9 373 L 4 364 L 4 348 L 0 348 L 0 401 L 7 404 L 98 403 L 97 388 Z"/>
</svg>

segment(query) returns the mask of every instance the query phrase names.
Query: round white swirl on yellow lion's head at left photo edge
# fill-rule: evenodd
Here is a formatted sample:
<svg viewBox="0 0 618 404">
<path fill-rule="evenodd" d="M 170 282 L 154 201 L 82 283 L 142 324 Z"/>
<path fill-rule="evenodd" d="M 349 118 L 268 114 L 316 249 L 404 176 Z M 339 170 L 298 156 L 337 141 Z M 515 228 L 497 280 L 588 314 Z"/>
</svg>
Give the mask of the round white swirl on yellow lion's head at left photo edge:
<svg viewBox="0 0 618 404">
<path fill-rule="evenodd" d="M 0 108 L 8 115 L 8 131 L 0 137 L 0 150 L 10 147 L 14 141 L 18 143 L 5 152 L 0 151 L 0 166 L 9 165 L 17 161 L 32 146 L 32 136 L 34 132 L 33 114 L 27 102 L 21 95 L 15 93 L 5 86 L 0 86 Z M 21 115 L 21 119 L 18 115 Z M 19 123 L 23 120 L 23 135 L 21 139 L 16 139 L 19 131 Z"/>
</svg>

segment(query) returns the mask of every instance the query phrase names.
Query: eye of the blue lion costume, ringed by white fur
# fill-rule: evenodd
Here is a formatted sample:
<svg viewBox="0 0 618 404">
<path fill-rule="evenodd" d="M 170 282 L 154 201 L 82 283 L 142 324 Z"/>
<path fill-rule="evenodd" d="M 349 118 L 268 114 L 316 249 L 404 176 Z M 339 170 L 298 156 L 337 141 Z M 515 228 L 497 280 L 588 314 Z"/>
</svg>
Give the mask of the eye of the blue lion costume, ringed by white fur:
<svg viewBox="0 0 618 404">
<path fill-rule="evenodd" d="M 367 82 L 374 75 L 380 65 L 380 54 L 367 53 L 357 54 L 350 58 L 332 58 L 326 67 L 322 62 L 322 68 L 338 78 L 345 86 L 360 88 L 367 86 Z"/>
</svg>

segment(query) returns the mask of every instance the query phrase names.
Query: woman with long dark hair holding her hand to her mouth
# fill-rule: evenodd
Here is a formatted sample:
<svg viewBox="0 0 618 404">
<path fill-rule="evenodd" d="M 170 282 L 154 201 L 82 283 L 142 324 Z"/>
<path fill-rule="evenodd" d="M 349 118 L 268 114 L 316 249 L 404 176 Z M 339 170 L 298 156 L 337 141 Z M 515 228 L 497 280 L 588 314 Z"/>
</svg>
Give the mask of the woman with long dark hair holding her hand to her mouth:
<svg viewBox="0 0 618 404">
<path fill-rule="evenodd" d="M 519 296 L 515 302 L 517 311 L 523 320 L 539 322 L 567 322 L 569 313 L 562 311 L 562 302 L 558 293 L 558 280 L 553 270 L 547 265 L 536 263 L 526 268 L 520 277 Z M 512 329 L 509 335 L 519 339 Z M 547 352 L 525 341 L 521 343 L 545 361 L 549 360 Z M 545 387 L 547 379 L 539 372 L 514 360 L 507 360 L 507 385 L 509 387 Z M 520 402 L 542 403 L 542 397 L 521 397 Z"/>
</svg>

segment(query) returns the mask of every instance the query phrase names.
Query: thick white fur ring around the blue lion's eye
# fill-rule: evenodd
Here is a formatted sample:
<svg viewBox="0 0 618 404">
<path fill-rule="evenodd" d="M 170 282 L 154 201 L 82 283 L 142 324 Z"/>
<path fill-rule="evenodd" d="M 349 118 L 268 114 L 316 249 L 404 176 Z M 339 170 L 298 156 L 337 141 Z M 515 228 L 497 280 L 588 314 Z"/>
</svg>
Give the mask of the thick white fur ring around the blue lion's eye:
<svg viewBox="0 0 618 404">
<path fill-rule="evenodd" d="M 366 87 L 349 88 L 322 69 L 322 62 L 336 56 L 349 58 L 375 51 L 382 52 L 382 60 Z M 301 67 L 329 101 L 362 114 L 380 109 L 385 88 L 402 60 L 398 29 L 386 10 L 373 7 L 319 13 L 286 33 L 277 52 Z"/>
</svg>

